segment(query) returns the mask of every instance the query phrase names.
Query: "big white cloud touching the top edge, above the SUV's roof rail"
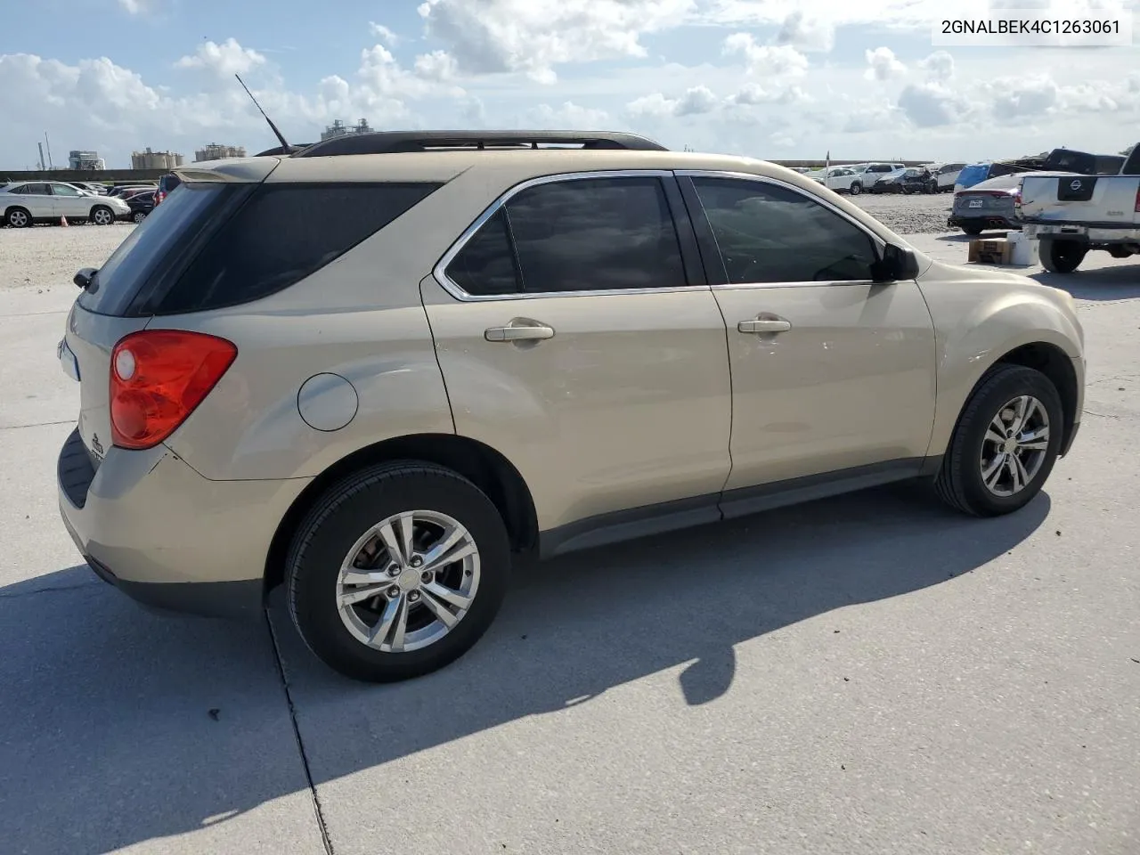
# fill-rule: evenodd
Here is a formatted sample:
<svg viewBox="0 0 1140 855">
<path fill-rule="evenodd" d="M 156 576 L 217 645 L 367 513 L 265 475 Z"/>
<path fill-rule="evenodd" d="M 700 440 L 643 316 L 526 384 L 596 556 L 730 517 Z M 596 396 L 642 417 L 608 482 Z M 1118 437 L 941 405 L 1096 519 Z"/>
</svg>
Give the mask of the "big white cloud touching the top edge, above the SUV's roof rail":
<svg viewBox="0 0 1140 855">
<path fill-rule="evenodd" d="M 418 11 L 463 71 L 553 83 L 564 63 L 645 57 L 643 34 L 694 9 L 695 0 L 425 0 Z"/>
</svg>

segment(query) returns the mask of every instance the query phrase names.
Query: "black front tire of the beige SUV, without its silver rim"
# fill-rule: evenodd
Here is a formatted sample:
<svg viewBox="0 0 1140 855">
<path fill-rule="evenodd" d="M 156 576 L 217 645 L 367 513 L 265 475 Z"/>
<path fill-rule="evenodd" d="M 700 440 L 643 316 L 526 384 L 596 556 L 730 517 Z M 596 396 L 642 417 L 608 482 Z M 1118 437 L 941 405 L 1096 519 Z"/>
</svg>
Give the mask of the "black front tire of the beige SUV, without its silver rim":
<svg viewBox="0 0 1140 855">
<path fill-rule="evenodd" d="M 991 422 L 1013 398 L 1031 394 L 1041 401 L 1049 417 L 1049 445 L 1041 467 L 1020 492 L 997 496 L 982 479 L 983 440 Z M 1060 394 L 1041 372 L 1020 365 L 997 365 L 979 382 L 961 415 L 935 480 L 939 498 L 971 516 L 1000 516 L 1018 511 L 1033 500 L 1057 462 L 1065 430 Z"/>
</svg>

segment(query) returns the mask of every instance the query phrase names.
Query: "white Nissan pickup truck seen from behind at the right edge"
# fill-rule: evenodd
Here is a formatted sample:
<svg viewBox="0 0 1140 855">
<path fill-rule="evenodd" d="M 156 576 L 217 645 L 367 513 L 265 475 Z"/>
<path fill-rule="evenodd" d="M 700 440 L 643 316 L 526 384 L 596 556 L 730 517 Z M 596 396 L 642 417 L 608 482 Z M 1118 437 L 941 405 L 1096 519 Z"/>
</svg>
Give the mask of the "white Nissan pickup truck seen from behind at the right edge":
<svg viewBox="0 0 1140 855">
<path fill-rule="evenodd" d="M 1073 272 L 1090 250 L 1140 254 L 1140 144 L 1119 174 L 1026 176 L 1017 217 L 1051 272 Z"/>
</svg>

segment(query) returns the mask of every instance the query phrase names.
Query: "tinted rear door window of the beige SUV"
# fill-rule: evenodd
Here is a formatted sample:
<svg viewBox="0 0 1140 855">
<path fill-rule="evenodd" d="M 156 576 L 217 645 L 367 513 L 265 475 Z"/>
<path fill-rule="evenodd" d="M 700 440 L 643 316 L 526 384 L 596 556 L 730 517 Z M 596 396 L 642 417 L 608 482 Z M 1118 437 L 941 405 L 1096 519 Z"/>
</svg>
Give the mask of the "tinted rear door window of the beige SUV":
<svg viewBox="0 0 1140 855">
<path fill-rule="evenodd" d="M 687 285 L 657 178 L 585 178 L 529 187 L 506 205 L 523 290 Z"/>
</svg>

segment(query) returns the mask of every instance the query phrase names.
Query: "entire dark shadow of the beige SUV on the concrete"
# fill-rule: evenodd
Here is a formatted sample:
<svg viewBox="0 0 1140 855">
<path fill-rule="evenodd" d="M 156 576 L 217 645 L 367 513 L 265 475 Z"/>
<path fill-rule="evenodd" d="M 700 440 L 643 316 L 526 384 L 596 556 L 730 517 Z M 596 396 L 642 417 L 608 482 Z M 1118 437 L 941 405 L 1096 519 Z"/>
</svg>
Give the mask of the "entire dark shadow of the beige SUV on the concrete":
<svg viewBox="0 0 1140 855">
<path fill-rule="evenodd" d="M 283 674 L 318 787 L 678 666 L 684 700 L 707 703 L 732 691 L 734 645 L 953 584 L 1049 507 L 1042 494 L 974 520 L 896 486 L 521 567 L 474 650 L 392 685 L 319 663 L 279 592 L 280 671 L 263 622 L 152 616 L 87 568 L 3 587 L 0 849 L 103 853 L 307 801 Z M 821 656 L 842 643 L 819 632 Z M 314 826 L 308 805 L 272 809 Z M 295 828 L 278 830 L 298 845 Z"/>
</svg>

